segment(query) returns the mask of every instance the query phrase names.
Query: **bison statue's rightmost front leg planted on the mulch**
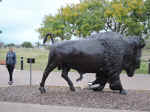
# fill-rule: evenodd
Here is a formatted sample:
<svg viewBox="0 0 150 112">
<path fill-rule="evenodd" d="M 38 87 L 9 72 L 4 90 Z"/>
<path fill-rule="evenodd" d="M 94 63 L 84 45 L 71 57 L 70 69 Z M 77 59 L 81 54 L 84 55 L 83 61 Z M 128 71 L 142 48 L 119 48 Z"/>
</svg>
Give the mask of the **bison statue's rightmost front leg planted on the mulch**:
<svg viewBox="0 0 150 112">
<path fill-rule="evenodd" d="M 122 94 L 122 95 L 127 94 L 126 90 L 124 90 L 122 87 L 119 76 L 114 76 L 114 78 L 111 79 L 109 86 L 110 86 L 110 89 L 112 89 L 112 90 L 119 90 L 120 94 Z"/>
</svg>

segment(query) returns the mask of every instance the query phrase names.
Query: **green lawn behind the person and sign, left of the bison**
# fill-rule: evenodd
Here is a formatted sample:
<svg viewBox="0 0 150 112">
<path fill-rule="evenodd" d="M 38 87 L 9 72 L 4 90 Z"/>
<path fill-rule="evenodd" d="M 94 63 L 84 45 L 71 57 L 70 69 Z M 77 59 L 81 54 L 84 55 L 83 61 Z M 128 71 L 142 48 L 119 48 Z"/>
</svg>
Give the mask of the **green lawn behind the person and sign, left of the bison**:
<svg viewBox="0 0 150 112">
<path fill-rule="evenodd" d="M 4 60 L 8 49 L 0 49 L 0 60 Z M 24 69 L 29 69 L 27 58 L 35 58 L 35 64 L 32 65 L 33 70 L 44 70 L 48 60 L 48 50 L 36 48 L 15 48 L 17 55 L 16 68 L 20 69 L 20 59 L 24 57 Z"/>
</svg>

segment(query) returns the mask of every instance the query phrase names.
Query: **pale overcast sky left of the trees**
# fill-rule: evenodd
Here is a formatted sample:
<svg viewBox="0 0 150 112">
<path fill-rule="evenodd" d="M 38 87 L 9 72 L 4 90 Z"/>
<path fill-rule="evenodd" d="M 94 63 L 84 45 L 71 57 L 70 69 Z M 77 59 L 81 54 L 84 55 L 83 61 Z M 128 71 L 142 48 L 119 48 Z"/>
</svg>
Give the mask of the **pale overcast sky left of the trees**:
<svg viewBox="0 0 150 112">
<path fill-rule="evenodd" d="M 66 4 L 79 0 L 3 0 L 0 3 L 0 41 L 21 44 L 24 41 L 35 43 L 44 16 L 56 14 Z"/>
</svg>

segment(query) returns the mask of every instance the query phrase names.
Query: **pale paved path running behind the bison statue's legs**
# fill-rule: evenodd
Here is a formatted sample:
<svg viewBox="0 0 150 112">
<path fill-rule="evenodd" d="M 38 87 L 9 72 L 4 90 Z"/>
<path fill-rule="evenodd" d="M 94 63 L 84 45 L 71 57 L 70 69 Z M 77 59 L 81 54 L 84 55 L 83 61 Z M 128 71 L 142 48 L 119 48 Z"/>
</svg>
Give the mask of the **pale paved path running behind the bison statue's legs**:
<svg viewBox="0 0 150 112">
<path fill-rule="evenodd" d="M 32 84 L 39 85 L 42 79 L 42 71 L 33 71 L 32 72 Z M 75 87 L 85 88 L 89 81 L 95 79 L 94 74 L 85 74 L 83 80 L 76 82 L 76 79 L 79 77 L 77 72 L 69 72 L 70 79 L 73 81 Z M 30 72 L 29 71 L 20 71 L 15 70 L 14 72 L 14 85 L 29 85 L 30 83 Z M 121 82 L 124 89 L 133 89 L 133 90 L 150 90 L 150 75 L 140 75 L 137 74 L 134 77 L 128 77 L 126 74 L 121 74 Z M 7 87 L 8 85 L 8 72 L 5 66 L 0 65 L 0 86 Z M 67 82 L 61 77 L 61 72 L 52 72 L 49 74 L 46 85 L 49 86 L 68 86 Z M 108 85 L 106 85 L 108 88 Z"/>
</svg>

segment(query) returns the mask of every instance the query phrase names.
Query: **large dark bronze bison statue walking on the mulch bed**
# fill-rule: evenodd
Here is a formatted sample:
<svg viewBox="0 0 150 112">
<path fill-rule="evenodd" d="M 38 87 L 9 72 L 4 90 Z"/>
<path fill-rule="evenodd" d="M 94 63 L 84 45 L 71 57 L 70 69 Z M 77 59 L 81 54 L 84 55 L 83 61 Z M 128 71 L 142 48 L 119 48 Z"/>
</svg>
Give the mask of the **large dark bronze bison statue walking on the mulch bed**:
<svg viewBox="0 0 150 112">
<path fill-rule="evenodd" d="M 81 74 L 96 73 L 97 79 L 93 84 L 99 83 L 100 86 L 93 90 L 101 91 L 105 84 L 109 83 L 110 89 L 126 94 L 120 81 L 120 73 L 125 70 L 128 76 L 133 76 L 139 67 L 141 49 L 144 45 L 141 38 L 120 38 L 119 34 L 113 32 L 106 32 L 104 36 L 97 35 L 92 39 L 53 44 L 39 90 L 41 93 L 46 92 L 45 81 L 49 73 L 58 67 L 72 91 L 75 91 L 75 88 L 68 77 L 71 68 Z"/>
</svg>

